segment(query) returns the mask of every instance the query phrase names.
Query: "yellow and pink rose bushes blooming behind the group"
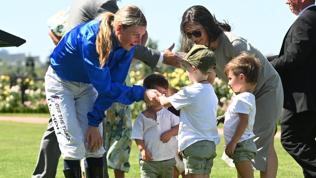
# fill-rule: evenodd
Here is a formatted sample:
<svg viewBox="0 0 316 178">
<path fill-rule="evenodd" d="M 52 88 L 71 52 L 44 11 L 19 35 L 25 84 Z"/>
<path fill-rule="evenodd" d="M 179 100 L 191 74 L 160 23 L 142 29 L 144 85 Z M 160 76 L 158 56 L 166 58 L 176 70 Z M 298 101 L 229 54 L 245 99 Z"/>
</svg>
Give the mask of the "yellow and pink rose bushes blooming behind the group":
<svg viewBox="0 0 316 178">
<path fill-rule="evenodd" d="M 189 80 L 185 70 L 175 69 L 172 72 L 164 72 L 171 87 L 180 89 L 192 82 Z M 140 71 L 130 71 L 130 82 L 135 85 L 142 85 L 146 77 Z M 11 84 L 12 85 L 12 84 Z M 21 88 L 24 88 L 24 102 L 21 102 Z M 45 97 L 44 81 L 34 81 L 30 78 L 18 78 L 10 87 L 10 77 L 0 76 L 0 112 L 37 112 L 48 113 Z M 223 115 L 230 104 L 233 95 L 232 89 L 219 78 L 215 78 L 213 85 L 218 98 L 217 115 Z M 144 102 L 131 105 L 133 118 L 146 108 Z"/>
</svg>

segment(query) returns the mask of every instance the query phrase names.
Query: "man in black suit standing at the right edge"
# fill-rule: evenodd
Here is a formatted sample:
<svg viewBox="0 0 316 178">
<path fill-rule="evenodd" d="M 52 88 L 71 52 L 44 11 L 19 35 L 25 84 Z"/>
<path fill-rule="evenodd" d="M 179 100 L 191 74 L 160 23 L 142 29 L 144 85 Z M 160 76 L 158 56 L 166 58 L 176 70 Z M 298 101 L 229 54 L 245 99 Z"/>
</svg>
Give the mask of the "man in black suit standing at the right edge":
<svg viewBox="0 0 316 178">
<path fill-rule="evenodd" d="M 316 178 L 316 6 L 315 0 L 286 0 L 299 17 L 283 39 L 277 58 L 268 57 L 284 90 L 281 143 Z"/>
</svg>

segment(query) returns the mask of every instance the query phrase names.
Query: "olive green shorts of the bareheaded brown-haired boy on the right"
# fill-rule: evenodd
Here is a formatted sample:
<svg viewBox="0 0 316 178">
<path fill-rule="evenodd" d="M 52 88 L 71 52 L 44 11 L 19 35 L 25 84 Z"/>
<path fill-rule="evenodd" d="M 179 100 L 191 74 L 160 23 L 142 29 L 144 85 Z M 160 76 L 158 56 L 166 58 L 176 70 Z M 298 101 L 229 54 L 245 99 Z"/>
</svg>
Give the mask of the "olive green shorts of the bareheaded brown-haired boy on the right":
<svg viewBox="0 0 316 178">
<path fill-rule="evenodd" d="M 239 142 L 236 145 L 233 155 L 228 157 L 233 160 L 233 163 L 241 161 L 251 161 L 257 155 L 257 146 L 253 142 L 253 138 Z"/>
</svg>

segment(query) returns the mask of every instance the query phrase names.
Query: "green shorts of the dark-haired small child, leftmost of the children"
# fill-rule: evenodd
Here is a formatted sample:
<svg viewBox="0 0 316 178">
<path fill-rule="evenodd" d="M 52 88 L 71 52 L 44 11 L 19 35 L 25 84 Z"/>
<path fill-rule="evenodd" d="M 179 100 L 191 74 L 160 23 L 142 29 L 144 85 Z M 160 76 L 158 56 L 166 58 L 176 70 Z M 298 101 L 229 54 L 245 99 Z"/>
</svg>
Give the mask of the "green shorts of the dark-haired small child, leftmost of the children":
<svg viewBox="0 0 316 178">
<path fill-rule="evenodd" d="M 140 159 L 140 176 L 141 178 L 173 178 L 175 166 L 175 158 L 149 162 Z"/>
</svg>

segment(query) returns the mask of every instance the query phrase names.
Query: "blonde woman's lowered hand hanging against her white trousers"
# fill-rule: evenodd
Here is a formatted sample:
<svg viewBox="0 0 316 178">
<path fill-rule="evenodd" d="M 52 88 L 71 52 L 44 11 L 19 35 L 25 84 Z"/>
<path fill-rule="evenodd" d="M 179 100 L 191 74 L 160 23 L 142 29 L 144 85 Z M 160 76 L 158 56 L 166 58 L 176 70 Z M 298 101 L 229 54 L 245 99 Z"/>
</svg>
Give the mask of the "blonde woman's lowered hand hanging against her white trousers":
<svg viewBox="0 0 316 178">
<path fill-rule="evenodd" d="M 89 144 L 88 150 L 91 150 L 91 153 L 93 153 L 95 149 L 98 151 L 101 148 L 103 145 L 103 139 L 98 127 L 88 125 L 86 142 Z"/>
</svg>

